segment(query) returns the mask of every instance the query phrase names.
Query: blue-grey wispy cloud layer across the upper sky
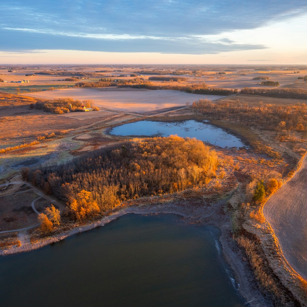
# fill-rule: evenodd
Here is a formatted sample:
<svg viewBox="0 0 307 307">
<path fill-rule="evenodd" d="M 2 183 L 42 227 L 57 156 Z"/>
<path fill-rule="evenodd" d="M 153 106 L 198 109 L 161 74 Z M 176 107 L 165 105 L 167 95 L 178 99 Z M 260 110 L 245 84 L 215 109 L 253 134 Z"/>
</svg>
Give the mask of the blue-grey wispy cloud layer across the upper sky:
<svg viewBox="0 0 307 307">
<path fill-rule="evenodd" d="M 34 0 L 0 3 L 2 51 L 214 54 L 264 49 L 223 38 L 307 12 L 305 1 Z"/>
</svg>

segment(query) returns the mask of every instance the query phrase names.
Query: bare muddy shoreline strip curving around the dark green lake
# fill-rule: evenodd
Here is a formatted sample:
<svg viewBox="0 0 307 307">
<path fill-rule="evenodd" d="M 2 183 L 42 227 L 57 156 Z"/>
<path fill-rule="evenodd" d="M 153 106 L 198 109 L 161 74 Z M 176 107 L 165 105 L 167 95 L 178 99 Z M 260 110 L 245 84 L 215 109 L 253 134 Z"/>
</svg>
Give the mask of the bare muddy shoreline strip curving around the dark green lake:
<svg viewBox="0 0 307 307">
<path fill-rule="evenodd" d="M 217 208 L 220 208 L 221 204 L 227 200 L 218 201 L 211 206 L 204 206 L 191 210 L 186 206 L 182 208 L 174 203 L 162 203 L 162 204 L 142 204 L 133 205 L 129 207 L 121 208 L 113 212 L 110 216 L 105 216 L 100 220 L 94 221 L 90 224 L 75 227 L 69 231 L 64 231 L 58 235 L 53 235 L 50 238 L 43 240 L 38 243 L 28 243 L 21 247 L 12 247 L 6 251 L 0 251 L 0 256 L 9 256 L 21 252 L 32 251 L 41 247 L 47 246 L 52 243 L 59 242 L 60 240 L 66 239 L 72 235 L 89 231 L 96 227 L 104 226 L 111 221 L 118 219 L 126 214 L 139 214 L 139 215 L 159 215 L 159 214 L 173 214 L 181 216 L 188 224 L 196 226 L 214 226 L 219 229 L 220 234 L 217 236 L 217 240 L 221 246 L 221 258 L 226 267 L 229 268 L 230 272 L 227 272 L 231 279 L 235 280 L 235 284 L 240 285 L 235 289 L 238 294 L 243 298 L 248 306 L 251 307 L 264 307 L 267 306 L 266 300 L 260 293 L 258 288 L 253 282 L 252 271 L 248 268 L 247 263 L 243 262 L 242 256 L 239 255 L 238 251 L 233 250 L 234 242 L 231 242 L 232 238 L 229 238 L 229 224 L 224 219 L 221 219 L 219 214 L 213 215 Z M 228 231 L 227 231 L 228 230 Z M 225 267 L 225 269 L 226 269 Z M 251 276 L 250 276 L 251 275 Z M 233 284 L 233 282 L 232 282 Z"/>
</svg>

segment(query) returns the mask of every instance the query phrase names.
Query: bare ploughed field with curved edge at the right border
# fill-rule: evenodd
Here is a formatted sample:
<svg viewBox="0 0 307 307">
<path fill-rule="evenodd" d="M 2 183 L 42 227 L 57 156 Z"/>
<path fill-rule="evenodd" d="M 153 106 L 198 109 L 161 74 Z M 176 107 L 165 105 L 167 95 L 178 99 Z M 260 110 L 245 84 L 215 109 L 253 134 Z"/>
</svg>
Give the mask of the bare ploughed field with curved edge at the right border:
<svg viewBox="0 0 307 307">
<path fill-rule="evenodd" d="M 286 260 L 307 280 L 307 154 L 293 178 L 266 202 L 263 214 Z"/>
</svg>

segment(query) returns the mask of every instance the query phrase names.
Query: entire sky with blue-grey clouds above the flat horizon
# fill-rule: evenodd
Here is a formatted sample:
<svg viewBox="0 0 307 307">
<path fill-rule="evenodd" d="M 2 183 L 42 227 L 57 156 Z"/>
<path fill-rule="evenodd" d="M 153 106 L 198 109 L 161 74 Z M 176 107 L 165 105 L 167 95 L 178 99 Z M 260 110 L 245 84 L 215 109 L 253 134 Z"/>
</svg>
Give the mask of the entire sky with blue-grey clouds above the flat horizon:
<svg viewBox="0 0 307 307">
<path fill-rule="evenodd" d="M 1 64 L 307 64 L 305 0 L 0 2 Z"/>
</svg>

